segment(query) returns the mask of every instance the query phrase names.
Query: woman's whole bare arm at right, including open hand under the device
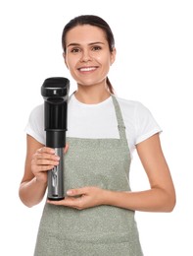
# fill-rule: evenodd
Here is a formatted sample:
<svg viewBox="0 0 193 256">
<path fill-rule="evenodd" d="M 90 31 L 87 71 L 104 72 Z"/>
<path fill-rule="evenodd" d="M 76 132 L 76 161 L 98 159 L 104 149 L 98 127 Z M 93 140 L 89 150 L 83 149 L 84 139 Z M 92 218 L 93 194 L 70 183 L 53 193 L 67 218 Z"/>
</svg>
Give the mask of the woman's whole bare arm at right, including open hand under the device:
<svg viewBox="0 0 193 256">
<path fill-rule="evenodd" d="M 159 135 L 156 134 L 138 144 L 137 153 L 150 182 L 149 190 L 121 192 L 85 187 L 70 190 L 70 197 L 63 201 L 49 203 L 77 209 L 111 205 L 133 211 L 171 212 L 175 205 L 175 192 Z M 76 195 L 82 196 L 74 198 Z"/>
</svg>

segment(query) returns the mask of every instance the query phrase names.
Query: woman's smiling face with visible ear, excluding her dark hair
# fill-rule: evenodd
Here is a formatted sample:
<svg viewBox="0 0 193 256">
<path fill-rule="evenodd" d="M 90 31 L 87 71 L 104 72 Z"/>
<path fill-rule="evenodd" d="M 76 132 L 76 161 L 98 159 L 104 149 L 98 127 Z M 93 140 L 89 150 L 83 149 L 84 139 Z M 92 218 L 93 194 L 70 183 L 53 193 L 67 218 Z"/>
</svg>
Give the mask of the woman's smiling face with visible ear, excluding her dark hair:
<svg viewBox="0 0 193 256">
<path fill-rule="evenodd" d="M 110 52 L 105 32 L 95 26 L 73 28 L 66 36 L 64 58 L 78 85 L 105 84 L 116 49 Z"/>
</svg>

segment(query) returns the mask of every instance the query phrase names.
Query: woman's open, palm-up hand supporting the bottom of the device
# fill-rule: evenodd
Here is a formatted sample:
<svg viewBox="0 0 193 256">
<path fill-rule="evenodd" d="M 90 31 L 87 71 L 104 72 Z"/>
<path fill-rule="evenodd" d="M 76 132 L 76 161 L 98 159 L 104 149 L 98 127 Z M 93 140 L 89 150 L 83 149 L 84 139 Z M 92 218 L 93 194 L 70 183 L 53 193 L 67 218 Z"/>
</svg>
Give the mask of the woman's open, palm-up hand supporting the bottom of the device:
<svg viewBox="0 0 193 256">
<path fill-rule="evenodd" d="M 68 197 L 60 201 L 47 200 L 47 203 L 57 206 L 67 206 L 78 210 L 104 204 L 106 190 L 99 187 L 82 187 L 67 191 Z"/>
</svg>

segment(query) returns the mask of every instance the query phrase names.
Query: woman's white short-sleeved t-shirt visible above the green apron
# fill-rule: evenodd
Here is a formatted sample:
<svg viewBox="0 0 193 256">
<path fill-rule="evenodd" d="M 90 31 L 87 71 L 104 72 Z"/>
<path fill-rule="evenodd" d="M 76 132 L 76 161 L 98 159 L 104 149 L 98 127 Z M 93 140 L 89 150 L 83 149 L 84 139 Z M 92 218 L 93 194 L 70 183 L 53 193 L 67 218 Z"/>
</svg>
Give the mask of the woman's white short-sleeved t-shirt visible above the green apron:
<svg viewBox="0 0 193 256">
<path fill-rule="evenodd" d="M 121 107 L 126 138 L 132 155 L 135 145 L 160 133 L 161 128 L 142 103 L 117 96 L 116 98 Z M 43 103 L 31 111 L 25 132 L 45 145 Z M 68 104 L 67 136 L 90 139 L 120 138 L 112 97 L 97 104 L 85 104 L 72 95 Z"/>
</svg>

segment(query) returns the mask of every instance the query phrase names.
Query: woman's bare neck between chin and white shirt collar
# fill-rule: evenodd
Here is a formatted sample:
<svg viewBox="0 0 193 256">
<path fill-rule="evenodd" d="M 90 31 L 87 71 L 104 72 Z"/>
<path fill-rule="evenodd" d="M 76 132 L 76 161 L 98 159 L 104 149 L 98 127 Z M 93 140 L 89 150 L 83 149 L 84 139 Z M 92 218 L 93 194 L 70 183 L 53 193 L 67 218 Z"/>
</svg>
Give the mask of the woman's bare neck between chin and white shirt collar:
<svg viewBox="0 0 193 256">
<path fill-rule="evenodd" d="M 82 103 L 97 104 L 107 99 L 111 94 L 107 87 L 78 86 L 74 96 Z"/>
</svg>

